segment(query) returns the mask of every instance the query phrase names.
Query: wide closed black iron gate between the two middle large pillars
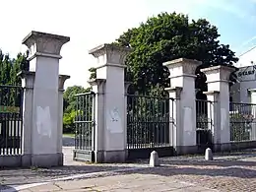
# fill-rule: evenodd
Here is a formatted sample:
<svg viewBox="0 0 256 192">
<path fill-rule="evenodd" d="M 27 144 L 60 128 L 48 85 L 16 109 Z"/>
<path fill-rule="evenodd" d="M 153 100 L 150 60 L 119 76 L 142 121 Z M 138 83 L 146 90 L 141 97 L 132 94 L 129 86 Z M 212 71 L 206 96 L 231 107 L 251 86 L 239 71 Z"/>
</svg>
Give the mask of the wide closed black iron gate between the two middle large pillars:
<svg viewBox="0 0 256 192">
<path fill-rule="evenodd" d="M 169 97 L 127 95 L 128 159 L 148 159 L 152 151 L 160 157 L 173 155 L 173 102 Z"/>
</svg>

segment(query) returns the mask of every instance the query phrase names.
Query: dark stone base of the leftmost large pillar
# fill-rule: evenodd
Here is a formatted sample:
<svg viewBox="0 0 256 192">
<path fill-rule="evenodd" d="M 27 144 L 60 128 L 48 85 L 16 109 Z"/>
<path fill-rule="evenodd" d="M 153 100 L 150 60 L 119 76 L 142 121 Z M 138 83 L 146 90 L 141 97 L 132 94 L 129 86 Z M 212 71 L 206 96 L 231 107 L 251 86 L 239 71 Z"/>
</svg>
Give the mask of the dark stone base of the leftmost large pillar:
<svg viewBox="0 0 256 192">
<path fill-rule="evenodd" d="M 32 155 L 32 166 L 52 167 L 63 166 L 63 154 L 39 154 Z"/>
</svg>

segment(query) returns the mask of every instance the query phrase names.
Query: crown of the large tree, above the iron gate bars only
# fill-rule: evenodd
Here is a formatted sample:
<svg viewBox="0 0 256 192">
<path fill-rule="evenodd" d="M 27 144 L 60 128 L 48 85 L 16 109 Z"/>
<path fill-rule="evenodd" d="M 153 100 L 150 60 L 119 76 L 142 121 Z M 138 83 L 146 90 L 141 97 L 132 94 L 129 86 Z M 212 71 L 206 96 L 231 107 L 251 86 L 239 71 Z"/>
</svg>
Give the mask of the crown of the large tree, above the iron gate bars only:
<svg viewBox="0 0 256 192">
<path fill-rule="evenodd" d="M 196 71 L 196 88 L 203 92 L 207 85 L 201 68 L 232 65 L 238 60 L 229 45 L 220 43 L 219 36 L 207 20 L 189 22 L 182 14 L 161 13 L 124 32 L 114 43 L 132 48 L 126 60 L 126 78 L 134 83 L 134 92 L 149 94 L 156 86 L 169 87 L 169 72 L 162 63 L 180 57 L 203 62 Z"/>
</svg>

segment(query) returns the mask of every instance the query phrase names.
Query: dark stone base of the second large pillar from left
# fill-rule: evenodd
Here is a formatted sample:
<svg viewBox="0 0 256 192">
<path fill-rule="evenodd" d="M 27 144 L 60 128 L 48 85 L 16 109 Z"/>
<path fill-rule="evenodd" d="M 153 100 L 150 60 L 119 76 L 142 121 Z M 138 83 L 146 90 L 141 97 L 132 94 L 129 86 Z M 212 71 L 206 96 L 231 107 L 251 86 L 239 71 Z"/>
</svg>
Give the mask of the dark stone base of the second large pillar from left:
<svg viewBox="0 0 256 192">
<path fill-rule="evenodd" d="M 126 150 L 122 151 L 97 151 L 96 162 L 125 162 L 126 160 Z"/>
</svg>

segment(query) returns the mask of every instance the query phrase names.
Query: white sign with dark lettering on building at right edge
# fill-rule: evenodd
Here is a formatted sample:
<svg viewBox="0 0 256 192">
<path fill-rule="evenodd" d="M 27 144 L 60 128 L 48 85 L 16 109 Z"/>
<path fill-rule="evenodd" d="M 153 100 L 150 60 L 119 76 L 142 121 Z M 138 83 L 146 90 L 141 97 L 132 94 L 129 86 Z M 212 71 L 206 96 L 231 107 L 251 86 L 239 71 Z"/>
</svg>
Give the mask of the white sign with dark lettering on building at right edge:
<svg viewBox="0 0 256 192">
<path fill-rule="evenodd" d="M 256 68 L 256 66 L 239 68 L 239 70 L 235 73 L 237 76 L 237 79 L 240 82 L 256 80 L 256 71 L 254 67 Z"/>
</svg>

